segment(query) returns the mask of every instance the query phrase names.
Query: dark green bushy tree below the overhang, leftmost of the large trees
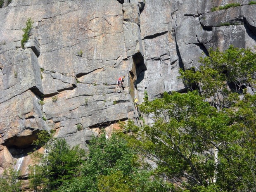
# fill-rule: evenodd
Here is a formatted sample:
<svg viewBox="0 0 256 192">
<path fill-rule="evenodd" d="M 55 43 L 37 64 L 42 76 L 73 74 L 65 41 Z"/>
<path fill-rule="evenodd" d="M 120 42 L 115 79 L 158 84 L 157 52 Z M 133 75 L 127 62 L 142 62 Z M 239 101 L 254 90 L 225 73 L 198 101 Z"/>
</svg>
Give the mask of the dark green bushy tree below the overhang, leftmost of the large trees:
<svg viewBox="0 0 256 192">
<path fill-rule="evenodd" d="M 73 179 L 84 156 L 82 149 L 70 149 L 64 139 L 50 139 L 45 145 L 45 155 L 38 159 L 39 164 L 30 168 L 31 186 L 38 192 L 56 192 L 62 183 Z"/>
</svg>

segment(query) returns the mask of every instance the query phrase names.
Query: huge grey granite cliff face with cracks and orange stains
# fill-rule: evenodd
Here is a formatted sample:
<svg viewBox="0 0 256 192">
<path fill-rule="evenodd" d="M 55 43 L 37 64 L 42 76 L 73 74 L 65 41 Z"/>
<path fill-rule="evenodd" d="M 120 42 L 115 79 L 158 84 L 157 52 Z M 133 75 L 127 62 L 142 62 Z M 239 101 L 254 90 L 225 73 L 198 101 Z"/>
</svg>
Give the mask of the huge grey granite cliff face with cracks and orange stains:
<svg viewBox="0 0 256 192">
<path fill-rule="evenodd" d="M 211 12 L 238 2 L 240 6 Z M 12 0 L 0 9 L 0 174 L 31 164 L 40 130 L 71 146 L 134 119 L 143 102 L 185 92 L 180 68 L 199 66 L 210 47 L 256 45 L 249 0 Z M 21 47 L 22 28 L 33 20 Z M 124 90 L 116 81 L 125 75 Z M 43 102 L 40 100 L 43 99 Z M 78 130 L 78 125 L 82 130 Z"/>
</svg>

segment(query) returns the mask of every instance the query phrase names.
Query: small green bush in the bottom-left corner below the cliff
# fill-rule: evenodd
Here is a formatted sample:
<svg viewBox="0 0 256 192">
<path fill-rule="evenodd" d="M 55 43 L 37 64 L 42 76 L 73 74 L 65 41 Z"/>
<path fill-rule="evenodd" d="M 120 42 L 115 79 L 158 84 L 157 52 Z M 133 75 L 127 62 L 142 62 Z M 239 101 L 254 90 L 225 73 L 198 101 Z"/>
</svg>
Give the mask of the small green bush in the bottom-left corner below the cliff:
<svg viewBox="0 0 256 192">
<path fill-rule="evenodd" d="M 19 192 L 22 181 L 18 180 L 20 171 L 11 168 L 5 169 L 0 176 L 0 192 Z"/>
</svg>

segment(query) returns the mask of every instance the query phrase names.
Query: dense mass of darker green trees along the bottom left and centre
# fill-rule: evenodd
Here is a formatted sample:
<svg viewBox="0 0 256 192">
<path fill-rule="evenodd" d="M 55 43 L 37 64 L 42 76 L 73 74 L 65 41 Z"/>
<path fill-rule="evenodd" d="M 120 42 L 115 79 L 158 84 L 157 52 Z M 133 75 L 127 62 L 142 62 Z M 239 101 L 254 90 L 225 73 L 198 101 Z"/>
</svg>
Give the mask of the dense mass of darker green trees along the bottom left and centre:
<svg viewBox="0 0 256 192">
<path fill-rule="evenodd" d="M 48 136 L 40 135 L 42 140 Z M 45 143 L 45 142 L 36 142 Z M 164 182 L 141 164 L 121 135 L 90 140 L 89 153 L 70 149 L 63 139 L 50 140 L 40 164 L 31 167 L 31 184 L 37 192 L 168 192 Z M 86 160 L 85 160 L 86 158 Z"/>
</svg>

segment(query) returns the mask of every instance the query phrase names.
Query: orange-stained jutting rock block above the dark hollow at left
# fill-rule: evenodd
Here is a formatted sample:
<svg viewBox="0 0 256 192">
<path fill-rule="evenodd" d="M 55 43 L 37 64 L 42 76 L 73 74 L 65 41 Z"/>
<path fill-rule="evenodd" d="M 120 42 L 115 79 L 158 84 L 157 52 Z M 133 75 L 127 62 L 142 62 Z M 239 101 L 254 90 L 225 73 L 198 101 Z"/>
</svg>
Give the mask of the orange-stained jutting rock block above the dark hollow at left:
<svg viewBox="0 0 256 192">
<path fill-rule="evenodd" d="M 5 111 L 0 115 L 0 127 L 9 147 L 28 147 L 36 139 L 38 130 L 49 130 L 42 119 L 39 99 L 30 90 L 4 102 L 0 109 Z"/>
</svg>

